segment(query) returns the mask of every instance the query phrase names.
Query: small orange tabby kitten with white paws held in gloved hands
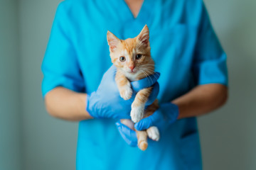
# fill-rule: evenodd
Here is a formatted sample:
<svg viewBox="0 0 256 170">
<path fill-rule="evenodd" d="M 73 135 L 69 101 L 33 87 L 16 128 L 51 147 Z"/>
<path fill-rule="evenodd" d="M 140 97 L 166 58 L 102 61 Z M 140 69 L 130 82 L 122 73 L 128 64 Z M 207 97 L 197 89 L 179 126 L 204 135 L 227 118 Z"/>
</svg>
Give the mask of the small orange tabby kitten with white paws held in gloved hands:
<svg viewBox="0 0 256 170">
<path fill-rule="evenodd" d="M 117 67 L 115 81 L 120 96 L 124 100 L 129 100 L 132 97 L 130 81 L 137 81 L 154 74 L 154 61 L 151 58 L 149 45 L 149 28 L 144 26 L 137 37 L 126 40 L 119 40 L 113 33 L 107 31 L 107 42 L 110 46 L 112 63 Z M 144 111 L 145 103 L 151 94 L 151 89 L 152 87 L 142 89 L 136 94 L 132 103 L 132 120 L 122 119 L 121 123 L 135 130 L 134 123 L 139 122 L 142 118 L 146 118 L 156 111 L 159 107 L 157 100 Z M 159 130 L 155 126 L 143 131 L 136 130 L 136 133 L 138 147 L 142 150 L 145 150 L 148 146 L 147 136 L 152 140 L 159 140 Z"/>
</svg>

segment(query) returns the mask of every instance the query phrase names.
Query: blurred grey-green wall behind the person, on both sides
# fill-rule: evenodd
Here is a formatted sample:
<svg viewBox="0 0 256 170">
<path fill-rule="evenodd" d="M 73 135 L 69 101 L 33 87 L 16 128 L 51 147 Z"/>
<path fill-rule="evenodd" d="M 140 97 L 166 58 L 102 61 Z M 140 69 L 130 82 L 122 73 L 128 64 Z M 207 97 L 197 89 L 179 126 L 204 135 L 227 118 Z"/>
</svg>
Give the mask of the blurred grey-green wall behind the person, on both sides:
<svg viewBox="0 0 256 170">
<path fill-rule="evenodd" d="M 20 0 L 18 13 L 16 1 L 0 2 L 0 169 L 18 170 L 21 160 L 24 170 L 75 169 L 78 123 L 51 118 L 41 97 L 41 62 L 60 0 Z M 205 2 L 228 54 L 230 98 L 198 119 L 203 166 L 254 170 L 256 1 Z"/>
</svg>

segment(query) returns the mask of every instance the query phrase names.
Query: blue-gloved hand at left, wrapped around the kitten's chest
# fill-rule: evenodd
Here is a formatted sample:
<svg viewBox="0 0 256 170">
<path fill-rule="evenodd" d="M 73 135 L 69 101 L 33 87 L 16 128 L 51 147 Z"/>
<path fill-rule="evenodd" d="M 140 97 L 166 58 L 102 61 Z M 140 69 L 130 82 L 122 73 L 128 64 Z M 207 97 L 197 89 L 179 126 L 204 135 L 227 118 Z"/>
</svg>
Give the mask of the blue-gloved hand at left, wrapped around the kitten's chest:
<svg viewBox="0 0 256 170">
<path fill-rule="evenodd" d="M 157 73 L 151 75 L 150 78 L 146 77 L 139 81 L 132 81 L 132 98 L 124 101 L 114 80 L 116 69 L 112 65 L 103 75 L 97 91 L 87 95 L 87 112 L 93 118 L 130 118 L 131 105 L 139 90 L 154 85 L 149 101 L 146 103 L 147 105 L 153 103 L 159 93 L 159 84 L 156 82 L 159 79 L 159 73 Z M 152 81 L 148 81 L 148 79 L 152 79 Z"/>
</svg>

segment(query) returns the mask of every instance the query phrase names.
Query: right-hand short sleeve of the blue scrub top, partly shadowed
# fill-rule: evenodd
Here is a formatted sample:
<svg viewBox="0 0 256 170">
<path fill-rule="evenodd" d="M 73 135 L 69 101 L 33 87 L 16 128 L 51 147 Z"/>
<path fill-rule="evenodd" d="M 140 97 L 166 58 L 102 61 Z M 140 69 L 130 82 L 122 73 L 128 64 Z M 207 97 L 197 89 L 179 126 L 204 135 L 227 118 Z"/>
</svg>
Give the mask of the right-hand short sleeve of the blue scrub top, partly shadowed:
<svg viewBox="0 0 256 170">
<path fill-rule="evenodd" d="M 202 3 L 201 21 L 193 57 L 193 76 L 197 85 L 223 84 L 228 86 L 226 55 L 210 24 Z"/>
</svg>

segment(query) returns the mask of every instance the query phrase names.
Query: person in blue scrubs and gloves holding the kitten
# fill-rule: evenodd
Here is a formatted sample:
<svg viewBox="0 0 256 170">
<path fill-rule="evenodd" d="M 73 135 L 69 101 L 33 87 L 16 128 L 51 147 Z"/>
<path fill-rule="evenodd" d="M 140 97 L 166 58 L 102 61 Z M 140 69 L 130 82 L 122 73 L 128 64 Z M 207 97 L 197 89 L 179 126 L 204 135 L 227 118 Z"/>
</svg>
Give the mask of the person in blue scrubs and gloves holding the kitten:
<svg viewBox="0 0 256 170">
<path fill-rule="evenodd" d="M 161 73 L 160 108 L 137 128 L 156 125 L 161 139 L 149 140 L 142 152 L 130 146 L 133 132 L 118 123 L 130 108 L 109 86 L 114 74 L 106 36 L 110 30 L 120 39 L 133 38 L 145 24 Z M 55 14 L 42 71 L 48 113 L 80 121 L 78 170 L 202 169 L 196 116 L 222 106 L 228 94 L 226 55 L 203 1 L 65 0 Z"/>
</svg>

